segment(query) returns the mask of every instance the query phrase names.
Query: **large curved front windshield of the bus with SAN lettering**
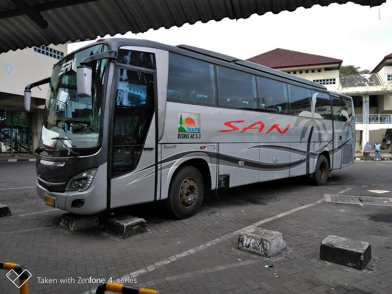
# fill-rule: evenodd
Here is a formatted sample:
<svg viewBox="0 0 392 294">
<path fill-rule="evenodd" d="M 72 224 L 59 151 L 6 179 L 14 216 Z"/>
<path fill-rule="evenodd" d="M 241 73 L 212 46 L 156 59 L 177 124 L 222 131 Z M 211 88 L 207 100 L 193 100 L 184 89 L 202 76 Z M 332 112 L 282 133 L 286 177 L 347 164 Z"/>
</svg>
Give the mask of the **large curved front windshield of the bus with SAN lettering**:
<svg viewBox="0 0 392 294">
<path fill-rule="evenodd" d="M 103 51 L 107 51 L 107 45 L 95 45 L 71 54 L 56 64 L 45 103 L 46 116 L 40 145 L 64 149 L 65 144 L 71 148 L 98 144 L 107 60 L 88 64 L 93 68 L 90 97 L 77 95 L 76 67 L 83 58 Z"/>
</svg>

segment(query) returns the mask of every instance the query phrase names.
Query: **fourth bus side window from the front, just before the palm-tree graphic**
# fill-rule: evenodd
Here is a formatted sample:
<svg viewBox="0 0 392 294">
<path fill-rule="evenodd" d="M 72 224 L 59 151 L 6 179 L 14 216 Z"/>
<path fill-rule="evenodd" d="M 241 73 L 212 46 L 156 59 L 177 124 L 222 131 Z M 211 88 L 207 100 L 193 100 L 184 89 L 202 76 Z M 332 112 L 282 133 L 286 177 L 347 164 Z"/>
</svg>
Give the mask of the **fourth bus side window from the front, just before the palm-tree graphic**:
<svg viewBox="0 0 392 294">
<path fill-rule="evenodd" d="M 289 84 L 290 115 L 312 116 L 311 98 L 309 89 Z"/>
</svg>

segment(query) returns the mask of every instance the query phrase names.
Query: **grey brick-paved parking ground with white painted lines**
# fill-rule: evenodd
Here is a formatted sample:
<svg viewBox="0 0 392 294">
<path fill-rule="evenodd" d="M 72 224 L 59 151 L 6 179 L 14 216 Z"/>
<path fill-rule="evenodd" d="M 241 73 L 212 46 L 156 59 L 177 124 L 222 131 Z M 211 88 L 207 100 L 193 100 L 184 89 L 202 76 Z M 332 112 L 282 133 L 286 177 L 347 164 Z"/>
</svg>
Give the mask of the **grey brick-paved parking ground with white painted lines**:
<svg viewBox="0 0 392 294">
<path fill-rule="evenodd" d="M 334 172 L 323 187 L 309 185 L 309 178 L 292 178 L 230 189 L 206 198 L 187 220 L 166 218 L 160 203 L 129 207 L 122 212 L 145 218 L 150 231 L 128 240 L 103 228 L 59 229 L 64 212 L 45 206 L 35 188 L 24 188 L 34 186 L 34 167 L 33 162 L 0 163 L 0 203 L 13 212 L 0 218 L 0 260 L 31 271 L 31 293 L 89 293 L 97 284 L 77 283 L 78 277 L 127 275 L 137 286 L 164 294 L 392 292 L 390 207 L 316 203 L 323 194 L 347 189 L 343 194 L 392 197 L 367 191 L 392 190 L 392 163 L 356 163 Z M 287 249 L 272 259 L 237 250 L 233 232 L 254 223 L 281 232 Z M 329 234 L 370 242 L 367 269 L 318 260 L 319 244 Z M 273 268 L 264 267 L 271 263 Z M 40 284 L 37 277 L 58 283 Z M 74 283 L 60 283 L 65 277 Z M 0 289 L 17 292 L 5 271 Z"/>
</svg>

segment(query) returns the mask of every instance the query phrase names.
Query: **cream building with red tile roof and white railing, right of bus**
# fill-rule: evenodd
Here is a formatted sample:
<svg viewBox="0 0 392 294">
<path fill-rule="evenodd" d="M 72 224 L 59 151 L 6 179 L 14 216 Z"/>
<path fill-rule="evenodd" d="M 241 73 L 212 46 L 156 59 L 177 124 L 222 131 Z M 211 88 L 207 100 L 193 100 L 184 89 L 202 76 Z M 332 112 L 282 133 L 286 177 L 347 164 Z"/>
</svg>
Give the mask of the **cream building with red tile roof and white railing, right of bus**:
<svg viewBox="0 0 392 294">
<path fill-rule="evenodd" d="M 287 49 L 274 49 L 247 59 L 325 85 L 351 96 L 355 107 L 356 151 L 369 141 L 383 142 L 392 129 L 392 53 L 368 74 L 340 76 L 343 60 Z M 388 146 L 387 146 L 388 147 Z"/>
</svg>

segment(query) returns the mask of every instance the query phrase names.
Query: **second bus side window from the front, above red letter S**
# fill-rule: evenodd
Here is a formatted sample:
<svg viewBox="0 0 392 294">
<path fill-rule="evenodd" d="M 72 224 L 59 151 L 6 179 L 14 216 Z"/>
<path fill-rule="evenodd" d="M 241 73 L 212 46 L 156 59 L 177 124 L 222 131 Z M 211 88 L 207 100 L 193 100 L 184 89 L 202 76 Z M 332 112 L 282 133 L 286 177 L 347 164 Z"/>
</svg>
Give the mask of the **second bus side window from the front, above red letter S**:
<svg viewBox="0 0 392 294">
<path fill-rule="evenodd" d="M 217 73 L 219 106 L 257 110 L 255 76 L 221 66 Z"/>
</svg>

